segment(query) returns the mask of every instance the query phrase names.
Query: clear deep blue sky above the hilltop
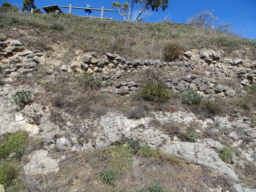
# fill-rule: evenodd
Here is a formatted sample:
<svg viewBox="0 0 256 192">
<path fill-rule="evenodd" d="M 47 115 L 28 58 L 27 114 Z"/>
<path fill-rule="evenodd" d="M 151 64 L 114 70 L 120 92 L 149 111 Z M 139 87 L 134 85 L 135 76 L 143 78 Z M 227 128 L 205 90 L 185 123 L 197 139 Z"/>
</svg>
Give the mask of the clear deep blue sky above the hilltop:
<svg viewBox="0 0 256 192">
<path fill-rule="evenodd" d="M 22 7 L 22 0 L 1 0 L 0 2 L 2 4 L 6 1 Z M 69 4 L 72 4 L 72 6 L 84 7 L 84 3 L 87 3 L 96 8 L 101 8 L 103 6 L 105 9 L 112 9 L 110 6 L 112 2 L 113 1 L 108 0 L 35 0 L 35 4 L 38 8 L 54 4 L 57 4 L 59 7 L 60 5 L 69 6 Z M 123 2 L 123 0 L 119 1 L 119 3 Z M 188 18 L 196 13 L 202 12 L 204 7 L 209 10 L 214 10 L 213 15 L 219 18 L 218 22 L 234 23 L 232 30 L 237 35 L 256 39 L 256 0 L 170 0 L 168 8 L 164 12 L 162 12 L 162 10 L 151 12 L 144 21 L 158 22 L 167 16 L 172 22 L 187 23 Z M 68 12 L 68 8 L 61 8 L 61 10 L 63 12 Z M 72 13 L 85 15 L 83 10 L 78 9 L 72 9 Z M 91 15 L 100 17 L 100 11 L 93 11 Z M 104 12 L 104 17 L 110 17 L 114 20 L 123 20 L 116 11 Z"/>
</svg>

